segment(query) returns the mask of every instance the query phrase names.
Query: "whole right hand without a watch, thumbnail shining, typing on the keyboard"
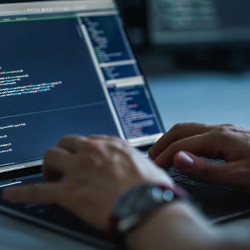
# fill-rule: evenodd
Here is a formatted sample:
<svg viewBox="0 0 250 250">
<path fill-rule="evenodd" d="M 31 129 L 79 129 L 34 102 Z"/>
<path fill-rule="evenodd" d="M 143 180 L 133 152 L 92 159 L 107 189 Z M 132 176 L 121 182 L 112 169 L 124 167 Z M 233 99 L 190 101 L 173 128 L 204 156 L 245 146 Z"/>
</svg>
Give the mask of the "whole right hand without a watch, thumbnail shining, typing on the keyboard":
<svg viewBox="0 0 250 250">
<path fill-rule="evenodd" d="M 199 181 L 250 193 L 250 132 L 233 125 L 175 125 L 149 151 L 161 167 L 172 164 Z M 197 156 L 222 159 L 210 162 Z"/>
</svg>

